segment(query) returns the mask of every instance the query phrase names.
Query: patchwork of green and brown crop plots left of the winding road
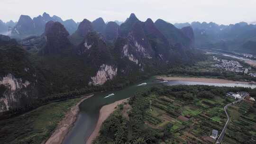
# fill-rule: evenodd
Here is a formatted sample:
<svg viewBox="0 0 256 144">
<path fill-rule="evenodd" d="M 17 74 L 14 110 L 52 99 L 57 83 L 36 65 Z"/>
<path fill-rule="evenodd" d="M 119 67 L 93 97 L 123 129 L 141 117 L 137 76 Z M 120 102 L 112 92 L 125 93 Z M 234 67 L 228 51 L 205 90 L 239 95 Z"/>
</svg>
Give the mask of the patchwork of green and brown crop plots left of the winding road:
<svg viewBox="0 0 256 144">
<path fill-rule="evenodd" d="M 227 120 L 223 107 L 233 101 L 220 96 L 188 101 L 174 95 L 156 94 L 150 94 L 149 99 L 152 106 L 146 111 L 146 125 L 159 130 L 170 127 L 172 134 L 171 138 L 161 140 L 161 144 L 214 144 L 215 140 L 210 138 L 211 131 L 221 131 Z"/>
</svg>

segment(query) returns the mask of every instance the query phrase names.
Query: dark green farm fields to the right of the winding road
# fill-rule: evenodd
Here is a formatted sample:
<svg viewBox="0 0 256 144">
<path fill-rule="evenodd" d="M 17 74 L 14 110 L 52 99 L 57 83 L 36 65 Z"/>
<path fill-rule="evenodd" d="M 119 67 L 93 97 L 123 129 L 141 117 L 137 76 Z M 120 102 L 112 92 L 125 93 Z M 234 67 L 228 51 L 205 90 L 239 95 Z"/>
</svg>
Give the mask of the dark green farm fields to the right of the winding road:
<svg viewBox="0 0 256 144">
<path fill-rule="evenodd" d="M 228 108 L 231 117 L 222 144 L 255 144 L 256 105 L 245 100 L 239 105 Z"/>
</svg>

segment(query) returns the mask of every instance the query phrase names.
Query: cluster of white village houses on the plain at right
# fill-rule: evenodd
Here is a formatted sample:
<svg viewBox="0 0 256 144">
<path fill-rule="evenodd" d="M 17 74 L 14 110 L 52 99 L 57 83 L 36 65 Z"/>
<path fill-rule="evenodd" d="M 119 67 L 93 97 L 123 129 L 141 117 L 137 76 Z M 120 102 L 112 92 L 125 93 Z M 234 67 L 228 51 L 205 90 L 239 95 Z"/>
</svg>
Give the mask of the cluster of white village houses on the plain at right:
<svg viewBox="0 0 256 144">
<path fill-rule="evenodd" d="M 219 62 L 218 64 L 213 65 L 214 67 L 224 69 L 225 71 L 229 72 L 240 72 L 244 74 L 248 74 L 249 76 L 256 77 L 256 73 L 249 72 L 251 67 L 243 68 L 242 64 L 238 61 L 228 61 L 219 59 L 216 56 L 213 56 L 213 60 Z"/>
</svg>

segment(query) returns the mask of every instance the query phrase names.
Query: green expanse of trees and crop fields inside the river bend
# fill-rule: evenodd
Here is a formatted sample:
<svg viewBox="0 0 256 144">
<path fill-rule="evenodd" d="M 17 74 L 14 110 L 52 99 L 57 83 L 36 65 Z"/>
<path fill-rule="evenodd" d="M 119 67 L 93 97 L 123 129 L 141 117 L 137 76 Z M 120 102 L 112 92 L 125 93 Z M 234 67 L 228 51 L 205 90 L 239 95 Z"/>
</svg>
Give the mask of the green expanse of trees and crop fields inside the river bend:
<svg viewBox="0 0 256 144">
<path fill-rule="evenodd" d="M 212 129 L 222 130 L 227 120 L 223 108 L 235 101 L 225 96 L 228 91 L 248 91 L 256 97 L 254 89 L 201 85 L 160 86 L 139 92 L 110 115 L 93 144 L 213 144 Z M 231 116 L 230 128 L 246 127 L 228 130 L 225 144 L 255 143 L 256 104 L 242 105 L 246 107 L 237 111 L 237 117 L 243 119 L 233 122 Z"/>
</svg>

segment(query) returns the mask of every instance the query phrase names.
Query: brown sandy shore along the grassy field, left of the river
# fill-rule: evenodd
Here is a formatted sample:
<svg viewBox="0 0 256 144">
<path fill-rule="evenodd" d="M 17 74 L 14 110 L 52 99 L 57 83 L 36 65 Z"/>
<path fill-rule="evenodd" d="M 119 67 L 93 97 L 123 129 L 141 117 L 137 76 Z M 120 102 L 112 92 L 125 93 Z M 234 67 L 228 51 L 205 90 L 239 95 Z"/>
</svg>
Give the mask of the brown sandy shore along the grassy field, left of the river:
<svg viewBox="0 0 256 144">
<path fill-rule="evenodd" d="M 75 106 L 70 108 L 70 110 L 65 114 L 65 117 L 59 122 L 58 126 L 55 128 L 52 135 L 46 140 L 44 144 L 62 144 L 65 136 L 68 134 L 69 130 L 73 127 L 74 122 L 79 114 L 79 105 L 88 98 L 91 98 L 93 94 L 82 97 Z"/>
</svg>

